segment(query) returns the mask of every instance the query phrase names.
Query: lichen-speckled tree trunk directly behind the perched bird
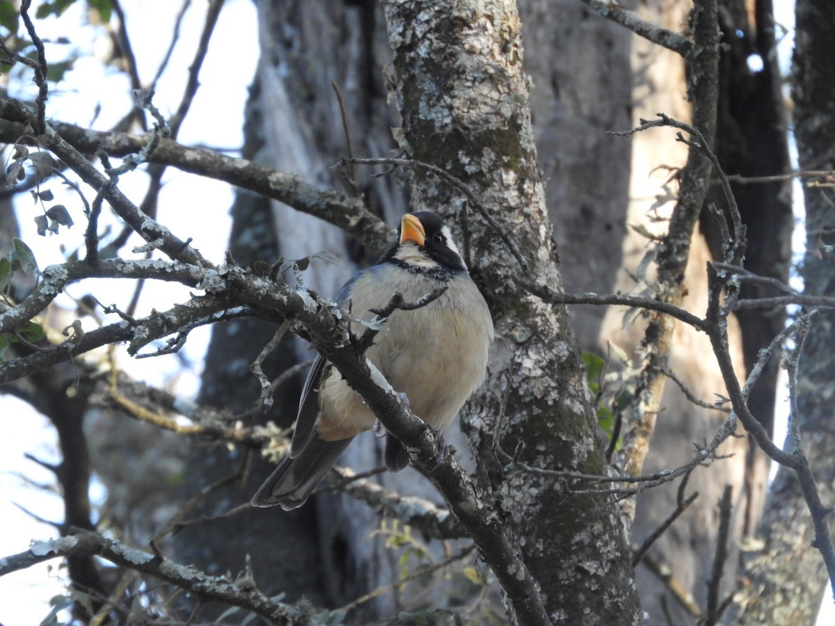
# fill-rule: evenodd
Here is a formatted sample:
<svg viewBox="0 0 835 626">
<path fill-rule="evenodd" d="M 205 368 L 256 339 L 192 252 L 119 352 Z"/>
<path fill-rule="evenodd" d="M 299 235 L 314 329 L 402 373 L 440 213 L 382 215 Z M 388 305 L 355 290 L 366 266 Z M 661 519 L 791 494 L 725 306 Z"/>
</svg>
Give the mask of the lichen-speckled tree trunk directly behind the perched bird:
<svg viewBox="0 0 835 626">
<path fill-rule="evenodd" d="M 412 176 L 412 209 L 440 210 L 456 223 L 468 265 L 497 319 L 487 383 L 493 393 L 473 403 L 467 420 L 478 476 L 495 493 L 514 534 L 524 538 L 525 563 L 554 623 L 640 623 L 615 507 L 602 497 L 566 496 L 553 481 L 504 473 L 493 462 L 494 444 L 513 451 L 521 443 L 521 459 L 530 465 L 603 470 L 564 310 L 544 305 L 514 281 L 524 272 L 560 285 L 515 5 L 385 6 L 404 149 L 462 179 L 496 224 L 490 228 L 475 207 L 464 206 L 457 190 L 420 172 Z M 521 252 L 524 270 L 502 233 Z"/>
</svg>

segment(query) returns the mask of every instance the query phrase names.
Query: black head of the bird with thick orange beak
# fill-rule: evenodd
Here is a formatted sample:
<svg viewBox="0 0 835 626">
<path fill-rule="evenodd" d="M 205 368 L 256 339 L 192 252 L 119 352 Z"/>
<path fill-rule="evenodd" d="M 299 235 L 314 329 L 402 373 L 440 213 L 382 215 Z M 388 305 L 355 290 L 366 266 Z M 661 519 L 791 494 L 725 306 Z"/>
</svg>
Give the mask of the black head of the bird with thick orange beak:
<svg viewBox="0 0 835 626">
<path fill-rule="evenodd" d="M 397 243 L 382 255 L 380 261 L 438 278 L 467 272 L 449 227 L 429 211 L 403 215 L 397 229 Z"/>
</svg>

